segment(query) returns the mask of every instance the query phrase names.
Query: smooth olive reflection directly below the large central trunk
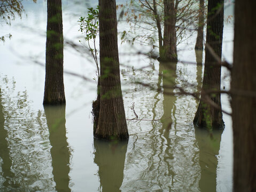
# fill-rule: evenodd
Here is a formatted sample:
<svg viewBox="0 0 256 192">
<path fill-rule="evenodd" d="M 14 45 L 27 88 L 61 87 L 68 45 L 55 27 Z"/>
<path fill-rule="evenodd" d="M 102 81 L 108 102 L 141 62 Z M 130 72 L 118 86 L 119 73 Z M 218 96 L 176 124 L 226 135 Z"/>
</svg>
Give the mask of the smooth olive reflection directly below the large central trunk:
<svg viewBox="0 0 256 192">
<path fill-rule="evenodd" d="M 99 191 L 121 191 L 119 188 L 123 181 L 127 144 L 128 141 L 94 140 L 94 162 L 99 167 Z"/>
</svg>

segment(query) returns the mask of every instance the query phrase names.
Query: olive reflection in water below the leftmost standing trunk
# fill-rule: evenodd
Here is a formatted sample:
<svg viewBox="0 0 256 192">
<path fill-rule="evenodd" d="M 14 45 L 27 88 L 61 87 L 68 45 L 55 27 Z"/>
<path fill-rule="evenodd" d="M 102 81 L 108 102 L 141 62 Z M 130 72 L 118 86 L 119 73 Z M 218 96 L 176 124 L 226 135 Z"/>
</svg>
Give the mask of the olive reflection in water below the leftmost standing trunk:
<svg viewBox="0 0 256 192">
<path fill-rule="evenodd" d="M 49 140 L 52 146 L 52 173 L 58 192 L 71 191 L 69 185 L 69 157 L 70 151 L 66 138 L 66 105 L 44 106 L 44 113 L 49 129 Z"/>
</svg>

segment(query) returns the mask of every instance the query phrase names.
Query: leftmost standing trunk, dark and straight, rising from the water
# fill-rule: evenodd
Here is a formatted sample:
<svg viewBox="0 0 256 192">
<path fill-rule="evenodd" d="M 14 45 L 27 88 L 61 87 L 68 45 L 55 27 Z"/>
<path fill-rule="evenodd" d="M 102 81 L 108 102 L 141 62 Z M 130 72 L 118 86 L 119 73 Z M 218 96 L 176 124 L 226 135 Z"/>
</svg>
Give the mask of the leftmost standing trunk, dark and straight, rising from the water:
<svg viewBox="0 0 256 192">
<path fill-rule="evenodd" d="M 65 103 L 61 0 L 47 1 L 44 104 Z"/>
</svg>

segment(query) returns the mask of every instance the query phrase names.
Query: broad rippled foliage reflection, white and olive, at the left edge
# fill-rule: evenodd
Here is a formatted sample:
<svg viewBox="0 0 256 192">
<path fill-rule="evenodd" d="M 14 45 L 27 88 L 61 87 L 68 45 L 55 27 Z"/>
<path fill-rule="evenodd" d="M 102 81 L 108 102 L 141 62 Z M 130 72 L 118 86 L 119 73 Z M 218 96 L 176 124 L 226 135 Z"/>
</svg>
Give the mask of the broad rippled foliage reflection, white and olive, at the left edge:
<svg viewBox="0 0 256 192">
<path fill-rule="evenodd" d="M 17 91 L 14 79 L 1 80 L 3 114 L 0 116 L 4 125 L 2 122 L 0 148 L 5 151 L 0 154 L 0 163 L 5 163 L 1 165 L 4 172 L 0 173 L 0 189 L 52 191 L 49 132 L 42 121 L 42 112 L 35 113 L 30 108 L 27 91 Z"/>
</svg>

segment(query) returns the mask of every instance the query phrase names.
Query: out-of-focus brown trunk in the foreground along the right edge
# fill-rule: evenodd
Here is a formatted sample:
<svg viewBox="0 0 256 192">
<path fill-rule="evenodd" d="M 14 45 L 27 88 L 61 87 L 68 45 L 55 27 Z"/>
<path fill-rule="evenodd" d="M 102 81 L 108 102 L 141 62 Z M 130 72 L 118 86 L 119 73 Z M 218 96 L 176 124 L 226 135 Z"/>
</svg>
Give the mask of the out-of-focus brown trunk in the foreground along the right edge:
<svg viewBox="0 0 256 192">
<path fill-rule="evenodd" d="M 236 0 L 231 107 L 234 134 L 233 190 L 256 191 L 256 1 Z"/>
</svg>

